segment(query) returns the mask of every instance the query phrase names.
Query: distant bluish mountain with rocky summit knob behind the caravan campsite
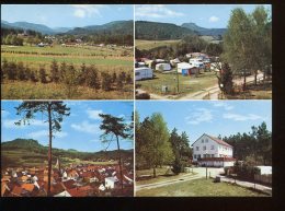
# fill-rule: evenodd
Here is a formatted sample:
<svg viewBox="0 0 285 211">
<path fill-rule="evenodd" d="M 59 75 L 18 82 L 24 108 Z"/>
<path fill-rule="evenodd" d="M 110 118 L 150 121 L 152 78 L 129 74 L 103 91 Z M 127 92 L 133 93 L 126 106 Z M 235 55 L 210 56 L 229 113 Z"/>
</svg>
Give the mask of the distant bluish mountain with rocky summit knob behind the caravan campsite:
<svg viewBox="0 0 285 211">
<path fill-rule="evenodd" d="M 227 31 L 227 28 L 206 28 L 206 27 L 201 27 L 196 25 L 195 23 L 183 23 L 181 25 L 184 28 L 193 30 L 198 32 L 200 35 L 204 36 L 218 36 L 218 35 L 224 35 Z"/>
</svg>

